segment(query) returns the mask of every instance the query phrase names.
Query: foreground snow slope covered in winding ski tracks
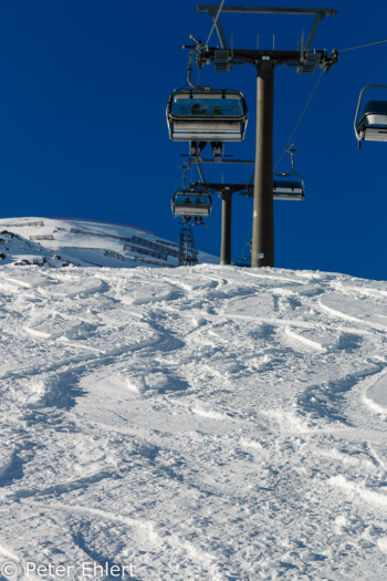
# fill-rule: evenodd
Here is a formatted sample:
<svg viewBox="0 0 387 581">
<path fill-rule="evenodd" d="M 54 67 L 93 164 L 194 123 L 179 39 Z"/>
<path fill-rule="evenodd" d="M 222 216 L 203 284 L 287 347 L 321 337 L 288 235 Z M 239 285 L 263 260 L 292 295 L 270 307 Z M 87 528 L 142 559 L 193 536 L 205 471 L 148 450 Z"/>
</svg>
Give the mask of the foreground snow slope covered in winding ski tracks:
<svg viewBox="0 0 387 581">
<path fill-rule="evenodd" d="M 6 266 L 0 303 L 1 580 L 387 578 L 387 283 Z"/>
</svg>

